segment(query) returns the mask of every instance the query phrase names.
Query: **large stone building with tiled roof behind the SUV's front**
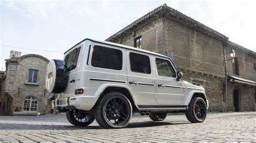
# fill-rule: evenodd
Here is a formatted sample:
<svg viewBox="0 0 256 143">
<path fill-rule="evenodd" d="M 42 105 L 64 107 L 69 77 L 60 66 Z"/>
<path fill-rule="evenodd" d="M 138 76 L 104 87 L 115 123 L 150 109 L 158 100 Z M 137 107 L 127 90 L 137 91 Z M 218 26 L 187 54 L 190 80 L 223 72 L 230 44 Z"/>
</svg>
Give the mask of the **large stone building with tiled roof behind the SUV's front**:
<svg viewBox="0 0 256 143">
<path fill-rule="evenodd" d="M 166 4 L 137 19 L 106 41 L 173 58 L 177 68 L 183 72 L 184 80 L 203 85 L 210 103 L 209 111 L 237 111 L 234 109 L 237 104 L 235 89 L 239 92 L 238 111 L 256 109 L 256 53 L 228 41 L 225 35 Z M 230 59 L 231 48 L 238 62 L 230 60 L 226 70 L 224 61 Z M 237 69 L 240 71 L 235 77 L 234 65 L 239 65 Z"/>
</svg>

